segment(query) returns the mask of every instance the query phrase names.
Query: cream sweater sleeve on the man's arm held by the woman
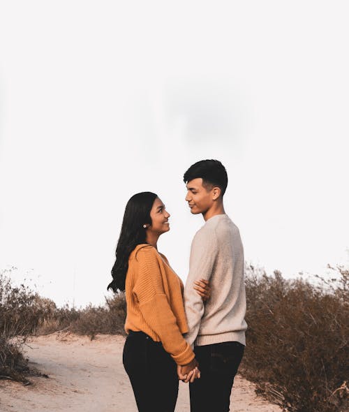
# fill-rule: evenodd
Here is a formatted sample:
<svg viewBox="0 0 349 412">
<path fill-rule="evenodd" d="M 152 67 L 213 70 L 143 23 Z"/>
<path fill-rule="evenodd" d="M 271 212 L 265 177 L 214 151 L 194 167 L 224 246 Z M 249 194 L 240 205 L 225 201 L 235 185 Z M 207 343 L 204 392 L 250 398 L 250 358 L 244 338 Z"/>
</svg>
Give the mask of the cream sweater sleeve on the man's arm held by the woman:
<svg viewBox="0 0 349 412">
<path fill-rule="evenodd" d="M 189 261 L 189 273 L 184 288 L 184 308 L 188 321 L 188 333 L 185 334 L 188 344 L 193 346 L 200 330 L 201 318 L 204 315 L 204 303 L 202 297 L 193 288 L 198 279 L 211 278 L 212 269 L 216 260 L 218 244 L 214 230 L 199 230 L 191 244 L 191 257 Z"/>
</svg>

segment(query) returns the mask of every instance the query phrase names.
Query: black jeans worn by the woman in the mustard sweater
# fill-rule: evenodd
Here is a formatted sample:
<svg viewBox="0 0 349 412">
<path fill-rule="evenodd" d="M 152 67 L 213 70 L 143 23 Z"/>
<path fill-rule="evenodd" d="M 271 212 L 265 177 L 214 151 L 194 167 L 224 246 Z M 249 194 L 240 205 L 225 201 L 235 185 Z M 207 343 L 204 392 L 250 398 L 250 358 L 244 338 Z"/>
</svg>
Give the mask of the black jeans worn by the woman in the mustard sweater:
<svg viewBox="0 0 349 412">
<path fill-rule="evenodd" d="M 177 366 L 161 342 L 130 332 L 123 354 L 140 412 L 173 412 L 178 395 Z"/>
</svg>

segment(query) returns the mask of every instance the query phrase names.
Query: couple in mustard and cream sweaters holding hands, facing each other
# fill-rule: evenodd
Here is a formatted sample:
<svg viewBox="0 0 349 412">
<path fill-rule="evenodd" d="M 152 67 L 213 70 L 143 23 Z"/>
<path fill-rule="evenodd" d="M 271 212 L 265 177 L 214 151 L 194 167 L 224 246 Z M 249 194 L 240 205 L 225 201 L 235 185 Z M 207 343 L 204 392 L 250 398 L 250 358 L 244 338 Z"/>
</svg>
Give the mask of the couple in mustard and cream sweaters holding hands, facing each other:
<svg viewBox="0 0 349 412">
<path fill-rule="evenodd" d="M 227 172 L 220 161 L 198 161 L 184 182 L 191 213 L 205 220 L 185 288 L 158 252 L 170 214 L 151 192 L 128 200 L 108 286 L 126 293 L 123 362 L 140 412 L 173 412 L 179 379 L 189 382 L 191 412 L 229 411 L 244 353 L 244 249 L 223 207 Z"/>
</svg>

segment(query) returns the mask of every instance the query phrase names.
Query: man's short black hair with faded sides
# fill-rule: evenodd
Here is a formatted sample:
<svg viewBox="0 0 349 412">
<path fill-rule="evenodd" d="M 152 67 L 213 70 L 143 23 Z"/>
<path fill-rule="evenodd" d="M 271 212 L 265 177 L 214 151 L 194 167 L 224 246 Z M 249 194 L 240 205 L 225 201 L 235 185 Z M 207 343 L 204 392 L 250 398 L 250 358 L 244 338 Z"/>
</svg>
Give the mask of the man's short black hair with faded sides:
<svg viewBox="0 0 349 412">
<path fill-rule="evenodd" d="M 225 167 L 218 160 L 200 160 L 184 173 L 184 183 L 193 179 L 202 178 L 202 185 L 208 189 L 208 186 L 218 186 L 225 193 L 228 185 L 228 175 Z"/>
</svg>

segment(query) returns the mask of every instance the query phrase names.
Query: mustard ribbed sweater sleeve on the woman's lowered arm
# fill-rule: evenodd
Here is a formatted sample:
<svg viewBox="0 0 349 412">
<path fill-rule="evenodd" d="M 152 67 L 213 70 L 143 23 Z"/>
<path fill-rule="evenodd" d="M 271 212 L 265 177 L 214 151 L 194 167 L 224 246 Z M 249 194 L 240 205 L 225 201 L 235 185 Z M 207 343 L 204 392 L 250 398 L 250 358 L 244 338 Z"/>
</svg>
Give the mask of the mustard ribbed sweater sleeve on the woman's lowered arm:
<svg viewBox="0 0 349 412">
<path fill-rule="evenodd" d="M 186 365 L 195 355 L 181 334 L 165 295 L 156 249 L 140 249 L 137 260 L 139 272 L 133 292 L 137 296 L 144 321 L 158 334 L 163 348 L 170 353 L 174 362 L 177 365 Z"/>
</svg>

